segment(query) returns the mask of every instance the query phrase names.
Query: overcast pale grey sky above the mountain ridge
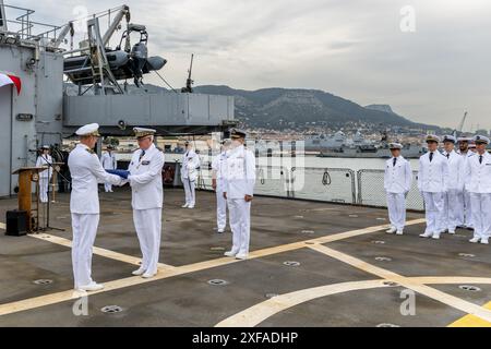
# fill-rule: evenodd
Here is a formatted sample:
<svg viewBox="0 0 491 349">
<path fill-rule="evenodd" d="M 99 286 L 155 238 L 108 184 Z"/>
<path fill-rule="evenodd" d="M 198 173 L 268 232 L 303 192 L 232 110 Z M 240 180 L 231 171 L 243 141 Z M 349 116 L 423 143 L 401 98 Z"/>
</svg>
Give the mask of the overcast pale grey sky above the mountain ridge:
<svg viewBox="0 0 491 349">
<path fill-rule="evenodd" d="M 14 1 L 5 1 L 13 4 Z M 122 4 L 115 0 L 20 0 L 35 20 L 62 24 Z M 491 129 L 491 1 L 127 0 L 147 26 L 160 72 L 184 84 L 195 53 L 197 85 L 323 89 L 361 105 L 388 104 L 414 121 Z M 403 32 L 415 10 L 416 32 Z M 407 12 L 405 12 L 407 13 Z M 404 26 L 410 28 L 409 26 Z M 120 34 L 118 34 L 119 36 Z M 161 85 L 152 74 L 146 82 Z"/>
</svg>

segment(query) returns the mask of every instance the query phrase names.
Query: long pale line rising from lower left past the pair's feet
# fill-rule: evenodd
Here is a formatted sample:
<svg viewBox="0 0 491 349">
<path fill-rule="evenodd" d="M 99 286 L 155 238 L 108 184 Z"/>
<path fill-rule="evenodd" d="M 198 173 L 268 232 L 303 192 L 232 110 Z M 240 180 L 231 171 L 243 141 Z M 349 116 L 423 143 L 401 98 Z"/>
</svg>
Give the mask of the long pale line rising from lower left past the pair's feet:
<svg viewBox="0 0 491 349">
<path fill-rule="evenodd" d="M 424 221 L 424 220 L 423 219 L 410 220 L 407 222 L 407 225 L 417 225 L 422 221 Z M 267 255 L 272 255 L 272 254 L 276 254 L 276 253 L 302 249 L 302 248 L 306 248 L 306 242 L 323 243 L 323 241 L 327 238 L 330 238 L 328 241 L 337 241 L 337 240 L 347 239 L 347 238 L 355 237 L 355 236 L 360 236 L 363 233 L 371 233 L 371 232 L 380 231 L 380 230 L 386 229 L 387 227 L 388 227 L 387 225 L 381 225 L 381 226 L 376 226 L 376 227 L 369 227 L 366 229 L 357 229 L 357 230 L 352 230 L 352 231 L 332 234 L 328 237 L 322 237 L 319 239 L 306 240 L 306 241 L 301 241 L 301 242 L 288 243 L 285 245 L 274 246 L 274 248 L 270 248 L 270 249 L 263 249 L 263 250 L 259 250 L 259 251 L 254 251 L 254 252 L 250 253 L 249 258 L 250 260 L 259 258 L 259 257 L 263 257 L 263 256 L 267 256 Z M 50 240 L 51 239 L 46 239 L 46 241 L 50 241 Z M 70 243 L 70 240 L 67 240 L 67 239 L 64 239 L 64 240 L 65 241 L 61 240 L 63 245 L 67 245 L 67 241 L 68 241 L 68 243 Z M 88 296 L 97 294 L 97 293 L 101 293 L 101 292 L 108 292 L 108 291 L 112 291 L 112 290 L 117 290 L 117 289 L 121 289 L 121 288 L 125 288 L 125 287 L 130 287 L 130 286 L 136 286 L 136 285 L 146 284 L 146 282 L 157 281 L 157 280 L 161 280 L 161 279 L 165 279 L 168 277 L 178 276 L 178 275 L 182 275 L 182 274 L 194 273 L 194 272 L 200 272 L 200 270 L 204 270 L 204 269 L 208 269 L 208 268 L 219 267 L 219 266 L 228 265 L 231 263 L 240 263 L 240 261 L 224 257 L 224 258 L 217 258 L 217 260 L 212 260 L 212 261 L 199 262 L 199 263 L 189 264 L 189 265 L 179 266 L 179 267 L 171 267 L 171 266 L 164 267 L 164 268 L 159 267 L 159 273 L 152 279 L 143 279 L 141 277 L 129 277 L 129 278 L 124 278 L 124 279 L 105 282 L 104 284 L 105 288 L 103 290 L 97 291 L 97 292 L 91 292 Z M 61 303 L 64 301 L 80 298 L 82 296 L 79 292 L 74 292 L 73 290 L 68 290 L 68 291 L 57 292 L 57 293 L 52 293 L 52 294 L 25 299 L 25 300 L 21 300 L 21 301 L 16 301 L 16 302 L 0 304 L 0 316 L 16 313 L 20 311 L 31 310 L 31 309 L 35 309 L 35 308 L 39 308 L 39 306 Z"/>
</svg>

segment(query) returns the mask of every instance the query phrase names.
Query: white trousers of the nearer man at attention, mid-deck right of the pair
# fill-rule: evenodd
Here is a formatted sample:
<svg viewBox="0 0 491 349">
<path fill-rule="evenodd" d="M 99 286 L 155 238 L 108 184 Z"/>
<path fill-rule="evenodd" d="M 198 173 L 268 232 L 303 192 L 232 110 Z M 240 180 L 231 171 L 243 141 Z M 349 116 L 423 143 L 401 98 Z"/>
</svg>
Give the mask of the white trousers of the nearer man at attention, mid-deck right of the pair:
<svg viewBox="0 0 491 349">
<path fill-rule="evenodd" d="M 251 203 L 243 198 L 228 198 L 228 214 L 232 231 L 233 253 L 248 254 L 251 236 Z"/>
</svg>

